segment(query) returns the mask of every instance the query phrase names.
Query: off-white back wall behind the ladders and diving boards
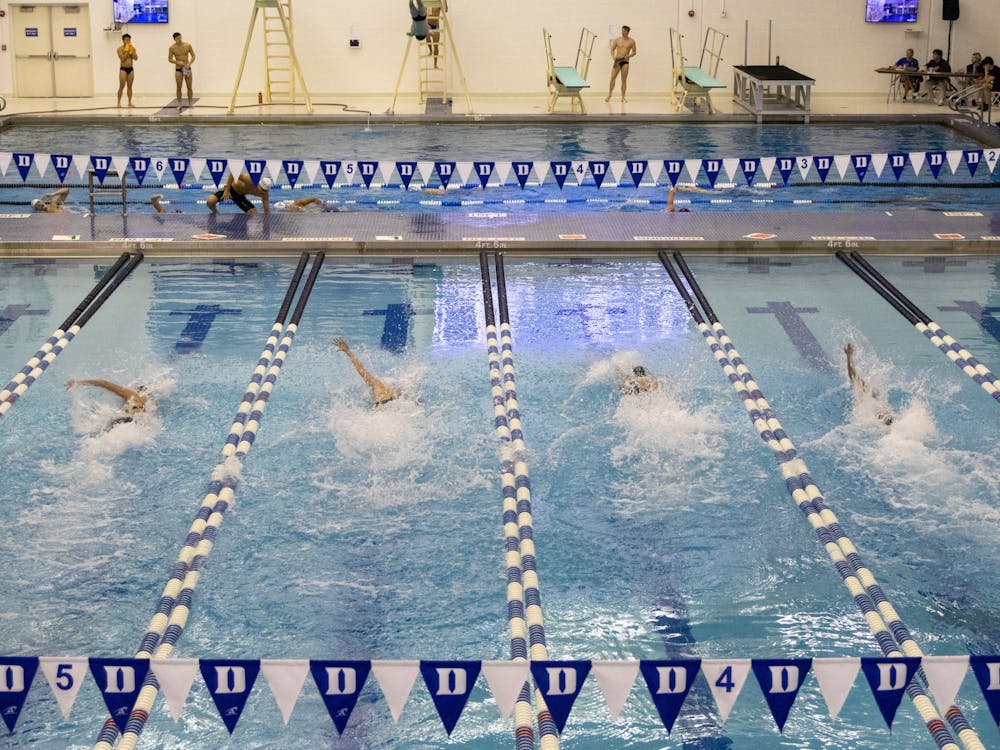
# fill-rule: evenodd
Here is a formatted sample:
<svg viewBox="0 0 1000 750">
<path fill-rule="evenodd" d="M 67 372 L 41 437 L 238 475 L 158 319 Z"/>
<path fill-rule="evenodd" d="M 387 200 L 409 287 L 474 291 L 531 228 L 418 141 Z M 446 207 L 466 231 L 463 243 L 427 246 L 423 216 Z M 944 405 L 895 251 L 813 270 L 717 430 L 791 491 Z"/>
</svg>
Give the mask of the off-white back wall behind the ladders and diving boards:
<svg viewBox="0 0 1000 750">
<path fill-rule="evenodd" d="M 36 0 L 52 4 L 60 0 Z M 62 0 L 65 2 L 65 0 Z M 728 34 L 719 77 L 729 82 L 729 67 L 744 62 L 767 63 L 768 22 L 772 56 L 782 64 L 816 78 L 815 93 L 876 93 L 886 82 L 874 68 L 894 62 L 906 47 L 923 62 L 930 50 L 947 50 L 948 24 L 941 21 L 942 0 L 921 0 L 919 33 L 899 25 L 866 24 L 865 0 L 451 0 L 449 18 L 470 90 L 474 94 L 542 93 L 545 59 L 542 27 L 553 34 L 558 63 L 572 65 L 581 26 L 596 32 L 590 80 L 602 88 L 610 72 L 606 40 L 632 27 L 639 55 L 631 66 L 629 88 L 635 94 L 662 93 L 669 85 L 668 29 L 684 34 L 685 53 L 697 64 L 705 29 Z M 0 0 L 8 8 L 10 0 Z M 89 0 L 94 45 L 94 91 L 117 90 L 118 61 L 114 50 L 121 32 L 105 32 L 111 0 Z M 402 61 L 409 28 L 406 0 L 294 0 L 296 51 L 314 98 L 391 92 Z M 964 65 L 975 49 L 1000 59 L 1000 13 L 992 0 L 963 0 L 954 24 L 952 62 Z M 196 94 L 232 91 L 253 7 L 251 0 L 170 0 L 168 26 L 133 25 L 140 59 L 136 90 L 169 97 L 173 67 L 167 63 L 170 35 L 180 31 L 198 55 Z M 688 11 L 693 9 L 693 18 Z M 725 12 L 725 15 L 723 15 Z M 10 16 L 0 19 L 0 93 L 12 92 Z M 361 40 L 348 46 L 350 28 Z M 263 87 L 260 33 L 241 91 L 253 96 Z M 405 85 L 414 88 L 410 66 Z"/>
</svg>

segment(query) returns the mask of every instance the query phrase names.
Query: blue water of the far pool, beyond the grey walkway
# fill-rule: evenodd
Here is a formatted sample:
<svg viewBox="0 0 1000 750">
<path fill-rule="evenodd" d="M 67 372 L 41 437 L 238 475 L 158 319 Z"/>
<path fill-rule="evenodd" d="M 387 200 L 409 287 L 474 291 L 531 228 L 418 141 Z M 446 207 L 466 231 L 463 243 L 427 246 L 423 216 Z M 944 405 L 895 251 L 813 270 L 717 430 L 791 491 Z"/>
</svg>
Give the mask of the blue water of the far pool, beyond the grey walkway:
<svg viewBox="0 0 1000 750">
<path fill-rule="evenodd" d="M 234 139 L 233 132 L 239 133 Z M 891 129 L 876 125 L 386 125 L 365 127 L 357 125 L 241 125 L 233 131 L 220 125 L 166 125 L 152 122 L 142 125 L 86 125 L 73 129 L 72 137 L 65 125 L 15 124 L 0 131 L 0 150 L 13 153 L 73 154 L 79 143 L 86 143 L 90 154 L 105 156 L 182 157 L 201 159 L 267 159 L 280 169 L 282 159 L 324 159 L 349 162 L 380 161 L 390 165 L 396 161 L 433 162 L 477 160 L 517 161 L 541 160 L 568 161 L 578 170 L 582 185 L 569 179 L 560 189 L 549 175 L 538 185 L 538 175 L 529 178 L 522 188 L 513 175 L 506 178 L 504 187 L 486 190 L 478 186 L 473 174 L 470 183 L 438 194 L 441 182 L 429 175 L 426 183 L 418 175 L 410 190 L 402 190 L 400 178 L 387 176 L 391 184 L 383 185 L 379 174 L 372 187 L 365 187 L 360 178 L 348 185 L 341 177 L 334 189 L 326 186 L 323 176 L 316 176 L 316 184 L 300 184 L 292 192 L 284 175 L 277 180 L 279 190 L 273 191 L 275 200 L 313 195 L 327 201 L 338 210 L 420 211 L 477 210 L 476 206 L 502 206 L 505 211 L 537 211 L 539 207 L 551 208 L 555 203 L 569 211 L 603 210 L 663 210 L 666 204 L 665 174 L 658 178 L 658 187 L 638 189 L 632 186 L 628 175 L 623 184 L 598 188 L 588 174 L 587 162 L 595 160 L 650 160 L 664 159 L 724 159 L 732 157 L 788 157 L 802 155 L 909 153 L 929 151 L 957 151 L 978 149 L 977 144 L 956 130 L 934 124 L 894 125 Z M 984 160 L 990 159 L 989 150 Z M 995 152 L 993 152 L 995 156 Z M 989 161 L 995 164 L 995 158 Z M 352 165 L 353 166 L 353 165 Z M 546 165 L 547 166 L 547 165 Z M 689 180 L 685 173 L 681 182 Z M 38 197 L 42 186 L 57 184 L 55 172 L 47 167 L 44 177 L 33 167 L 23 182 L 13 166 L 4 178 L 5 200 L 0 209 L 5 212 L 23 211 L 32 198 Z M 182 190 L 171 181 L 170 170 L 157 177 L 151 170 L 139 187 L 134 178 L 134 189 L 129 191 L 132 210 L 147 211 L 149 199 L 156 193 L 165 193 L 167 207 L 184 212 L 203 211 L 204 200 L 215 185 L 208 170 L 200 180 L 187 173 Z M 493 178 L 495 183 L 497 178 Z M 698 177 L 702 188 L 708 188 L 707 177 Z M 770 180 L 759 173 L 752 187 L 746 185 L 742 174 L 732 181 L 728 175 L 720 176 L 711 194 L 684 193 L 680 201 L 690 201 L 699 211 L 751 210 L 766 207 L 812 207 L 820 210 L 849 211 L 858 208 L 895 207 L 900 209 L 979 209 L 995 203 L 997 178 L 984 162 L 975 175 L 963 164 L 954 174 L 943 167 L 935 178 L 924 166 L 916 174 L 912 165 L 907 166 L 898 179 L 886 167 L 881 177 L 869 170 L 865 184 L 859 186 L 853 169 L 848 169 L 843 181 L 836 168 L 821 179 L 815 168 L 803 177 L 793 170 L 784 187 L 778 170 Z M 77 210 L 86 207 L 85 181 L 71 169 L 67 184 L 82 185 L 75 188 L 73 201 Z M 625 183 L 628 183 L 627 185 Z M 784 189 L 772 189 L 771 184 Z M 425 187 L 433 189 L 431 194 Z M 102 211 L 114 208 L 113 197 L 98 199 Z M 229 208 L 232 208 L 231 206 Z"/>
</svg>

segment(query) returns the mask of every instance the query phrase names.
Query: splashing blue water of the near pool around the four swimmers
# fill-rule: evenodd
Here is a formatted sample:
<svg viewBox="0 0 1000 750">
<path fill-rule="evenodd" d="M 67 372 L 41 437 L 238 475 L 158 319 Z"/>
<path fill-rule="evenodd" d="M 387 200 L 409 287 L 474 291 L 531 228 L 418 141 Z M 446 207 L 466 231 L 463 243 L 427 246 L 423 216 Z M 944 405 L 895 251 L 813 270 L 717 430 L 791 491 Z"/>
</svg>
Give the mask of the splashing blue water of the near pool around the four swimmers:
<svg viewBox="0 0 1000 750">
<path fill-rule="evenodd" d="M 996 371 L 1000 260 L 872 260 Z M 835 259 L 689 262 L 916 641 L 997 653 L 996 405 Z M 3 417 L 0 653 L 136 650 L 293 269 L 144 262 Z M 0 271 L 13 373 L 103 267 Z M 878 655 L 659 262 L 510 257 L 507 283 L 550 657 Z M 336 337 L 404 397 L 369 408 Z M 890 428 L 852 403 L 848 341 L 898 412 Z M 616 377 L 640 363 L 661 390 L 620 397 Z M 106 430 L 115 399 L 63 387 L 87 377 L 149 384 L 154 413 Z M 328 259 L 175 655 L 506 658 L 498 465 L 478 259 Z M 641 683 L 613 724 L 591 678 L 562 745 L 934 746 L 906 701 L 890 735 L 860 677 L 837 720 L 810 677 L 784 734 L 752 682 L 724 725 L 701 684 L 668 739 Z M 451 739 L 419 683 L 393 724 L 370 682 L 339 740 L 311 682 L 287 727 L 268 692 L 260 680 L 243 747 L 513 746 L 484 683 Z M 1000 742 L 971 676 L 958 703 L 987 747 Z M 104 715 L 88 679 L 63 721 L 38 676 L 4 743 L 88 748 Z M 226 737 L 199 680 L 179 722 L 158 702 L 140 747 Z"/>
</svg>

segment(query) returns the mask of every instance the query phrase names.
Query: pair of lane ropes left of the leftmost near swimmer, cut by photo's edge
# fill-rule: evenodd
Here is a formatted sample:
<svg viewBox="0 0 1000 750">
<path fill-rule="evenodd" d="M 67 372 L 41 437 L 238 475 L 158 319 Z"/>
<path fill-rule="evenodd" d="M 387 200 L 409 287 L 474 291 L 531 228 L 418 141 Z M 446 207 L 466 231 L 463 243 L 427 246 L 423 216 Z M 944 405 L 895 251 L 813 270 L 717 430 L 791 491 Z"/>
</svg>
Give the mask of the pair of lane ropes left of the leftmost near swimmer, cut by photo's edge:
<svg viewBox="0 0 1000 750">
<path fill-rule="evenodd" d="M 53 332 L 48 341 L 35 352 L 35 356 L 29 359 L 24 367 L 10 379 L 7 386 L 0 391 L 0 417 L 6 414 L 32 384 L 42 376 L 42 373 L 55 361 L 55 358 L 76 338 L 80 329 L 87 324 L 87 321 L 141 262 L 142 253 L 136 255 L 122 253 L 119 256 L 115 264 L 101 277 L 101 280 L 84 298 L 83 302 Z"/>
</svg>

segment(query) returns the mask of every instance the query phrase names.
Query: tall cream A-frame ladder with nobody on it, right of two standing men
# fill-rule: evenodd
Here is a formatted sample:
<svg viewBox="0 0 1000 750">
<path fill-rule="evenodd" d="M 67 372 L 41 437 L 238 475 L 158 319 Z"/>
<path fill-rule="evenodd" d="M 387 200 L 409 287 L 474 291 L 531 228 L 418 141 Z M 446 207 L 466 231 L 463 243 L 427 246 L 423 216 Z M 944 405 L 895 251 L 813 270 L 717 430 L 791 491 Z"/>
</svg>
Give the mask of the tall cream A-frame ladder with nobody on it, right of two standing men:
<svg viewBox="0 0 1000 750">
<path fill-rule="evenodd" d="M 257 26 L 257 15 L 263 11 L 264 27 L 264 91 L 265 104 L 288 103 L 297 101 L 295 80 L 298 78 L 302 86 L 302 94 L 306 102 L 306 110 L 312 113 L 312 98 L 306 88 L 302 68 L 295 56 L 295 45 L 292 42 L 292 0 L 254 0 L 253 13 L 250 16 L 250 27 L 247 29 L 247 40 L 243 45 L 243 57 L 240 69 L 233 85 L 233 98 L 229 102 L 229 114 L 236 110 L 236 96 L 239 93 L 240 81 L 247 63 L 250 51 L 250 40 Z"/>
</svg>

